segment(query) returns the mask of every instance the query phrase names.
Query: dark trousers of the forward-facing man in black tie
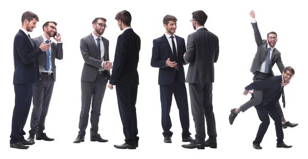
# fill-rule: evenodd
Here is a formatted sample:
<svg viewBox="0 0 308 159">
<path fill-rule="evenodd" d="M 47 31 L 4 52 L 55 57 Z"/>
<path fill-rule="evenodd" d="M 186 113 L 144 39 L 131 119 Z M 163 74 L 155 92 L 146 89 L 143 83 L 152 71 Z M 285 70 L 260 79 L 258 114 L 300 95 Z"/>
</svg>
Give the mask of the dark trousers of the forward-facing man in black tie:
<svg viewBox="0 0 308 159">
<path fill-rule="evenodd" d="M 162 127 L 163 135 L 172 136 L 173 132 L 170 131 L 172 126 L 170 119 L 170 110 L 172 103 L 172 94 L 175 96 L 175 100 L 179 109 L 180 122 L 182 126 L 182 138 L 190 136 L 189 132 L 189 112 L 188 112 L 188 100 L 185 83 L 179 82 L 178 74 L 175 74 L 175 81 L 169 85 L 160 85 L 160 98 L 162 107 Z"/>
</svg>

